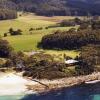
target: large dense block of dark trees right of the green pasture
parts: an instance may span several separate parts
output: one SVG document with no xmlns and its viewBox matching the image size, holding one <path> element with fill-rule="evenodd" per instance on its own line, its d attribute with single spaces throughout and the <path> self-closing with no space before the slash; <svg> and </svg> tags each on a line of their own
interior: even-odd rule
<svg viewBox="0 0 100 100">
<path fill-rule="evenodd" d="M 44 49 L 80 49 L 87 44 L 99 44 L 99 30 L 80 30 L 55 32 L 42 38 L 41 45 Z"/>
</svg>

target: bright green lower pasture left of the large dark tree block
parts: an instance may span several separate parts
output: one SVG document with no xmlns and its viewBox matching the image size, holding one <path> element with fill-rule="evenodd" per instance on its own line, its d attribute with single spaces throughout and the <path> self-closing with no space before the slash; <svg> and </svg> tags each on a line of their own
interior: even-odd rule
<svg viewBox="0 0 100 100">
<path fill-rule="evenodd" d="M 34 35 L 21 35 L 21 36 L 9 36 L 4 39 L 14 47 L 16 51 L 31 51 L 37 50 L 37 43 L 41 40 L 43 34 Z"/>
</svg>

